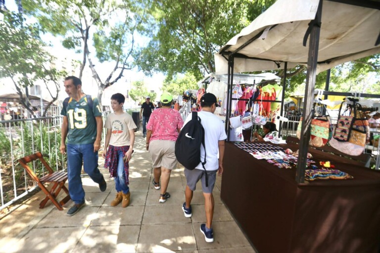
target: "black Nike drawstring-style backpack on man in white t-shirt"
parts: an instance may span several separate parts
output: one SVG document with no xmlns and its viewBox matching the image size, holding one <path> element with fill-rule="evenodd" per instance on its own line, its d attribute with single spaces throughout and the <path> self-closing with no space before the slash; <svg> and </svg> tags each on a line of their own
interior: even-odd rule
<svg viewBox="0 0 380 253">
<path fill-rule="evenodd" d="M 191 113 L 191 120 L 182 128 L 178 135 L 175 155 L 178 160 L 186 169 L 193 170 L 195 167 L 202 163 L 203 169 L 206 164 L 206 147 L 204 145 L 204 128 L 197 112 Z M 200 147 L 204 148 L 204 162 L 200 160 Z M 206 171 L 206 186 L 208 187 L 208 176 Z"/>
</svg>

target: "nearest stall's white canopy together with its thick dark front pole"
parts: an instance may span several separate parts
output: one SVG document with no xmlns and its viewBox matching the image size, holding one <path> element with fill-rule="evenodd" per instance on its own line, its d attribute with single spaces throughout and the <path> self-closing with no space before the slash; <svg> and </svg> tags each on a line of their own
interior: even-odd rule
<svg viewBox="0 0 380 253">
<path fill-rule="evenodd" d="M 316 74 L 380 53 L 379 33 L 380 0 L 277 0 L 215 54 L 217 74 L 307 65 L 298 183 L 304 182 Z"/>
</svg>

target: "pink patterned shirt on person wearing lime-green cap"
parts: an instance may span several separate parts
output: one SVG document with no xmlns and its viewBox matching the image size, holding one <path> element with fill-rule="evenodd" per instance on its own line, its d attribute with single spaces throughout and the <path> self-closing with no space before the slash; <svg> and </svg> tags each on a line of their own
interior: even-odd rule
<svg viewBox="0 0 380 253">
<path fill-rule="evenodd" d="M 152 112 L 146 129 L 152 131 L 149 141 L 172 140 L 176 141 L 178 130 L 184 126 L 180 113 L 171 108 L 159 108 Z"/>
</svg>

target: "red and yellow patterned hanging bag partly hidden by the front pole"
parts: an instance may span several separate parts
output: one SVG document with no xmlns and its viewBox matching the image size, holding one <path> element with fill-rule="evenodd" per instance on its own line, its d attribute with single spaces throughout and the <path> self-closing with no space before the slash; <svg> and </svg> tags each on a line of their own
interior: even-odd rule
<svg viewBox="0 0 380 253">
<path fill-rule="evenodd" d="M 314 114 L 313 107 L 313 114 Z M 327 112 L 327 111 L 326 111 Z M 297 138 L 301 139 L 302 117 L 297 127 Z M 309 145 L 313 147 L 325 146 L 331 138 L 330 116 L 319 116 L 311 120 Z"/>
</svg>

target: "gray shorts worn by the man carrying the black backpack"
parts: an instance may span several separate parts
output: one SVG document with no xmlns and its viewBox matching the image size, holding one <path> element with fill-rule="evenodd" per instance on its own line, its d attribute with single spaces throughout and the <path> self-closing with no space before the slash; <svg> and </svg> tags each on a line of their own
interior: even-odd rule
<svg viewBox="0 0 380 253">
<path fill-rule="evenodd" d="M 185 176 L 186 182 L 191 191 L 195 191 L 196 183 L 199 181 L 202 182 L 202 191 L 204 193 L 212 193 L 214 190 L 215 180 L 216 180 L 216 172 L 218 170 L 207 170 L 208 175 L 208 187 L 206 187 L 206 171 L 204 169 L 186 169 L 185 168 Z"/>
</svg>

